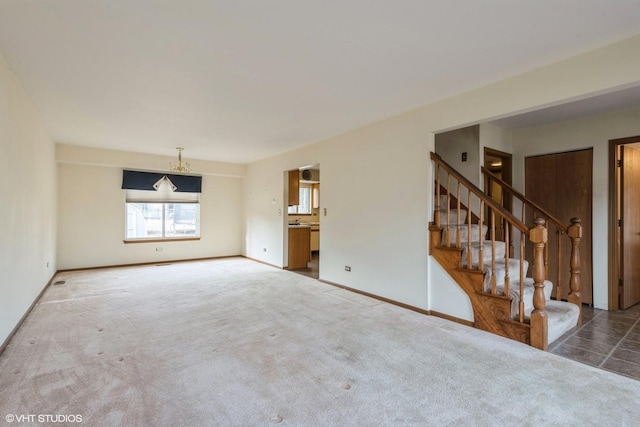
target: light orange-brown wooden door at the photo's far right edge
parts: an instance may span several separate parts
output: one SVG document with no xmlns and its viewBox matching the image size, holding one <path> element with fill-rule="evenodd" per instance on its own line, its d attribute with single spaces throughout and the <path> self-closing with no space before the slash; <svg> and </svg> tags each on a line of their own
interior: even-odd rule
<svg viewBox="0 0 640 427">
<path fill-rule="evenodd" d="M 640 302 L 640 150 L 623 145 L 620 150 L 620 308 Z"/>
</svg>

